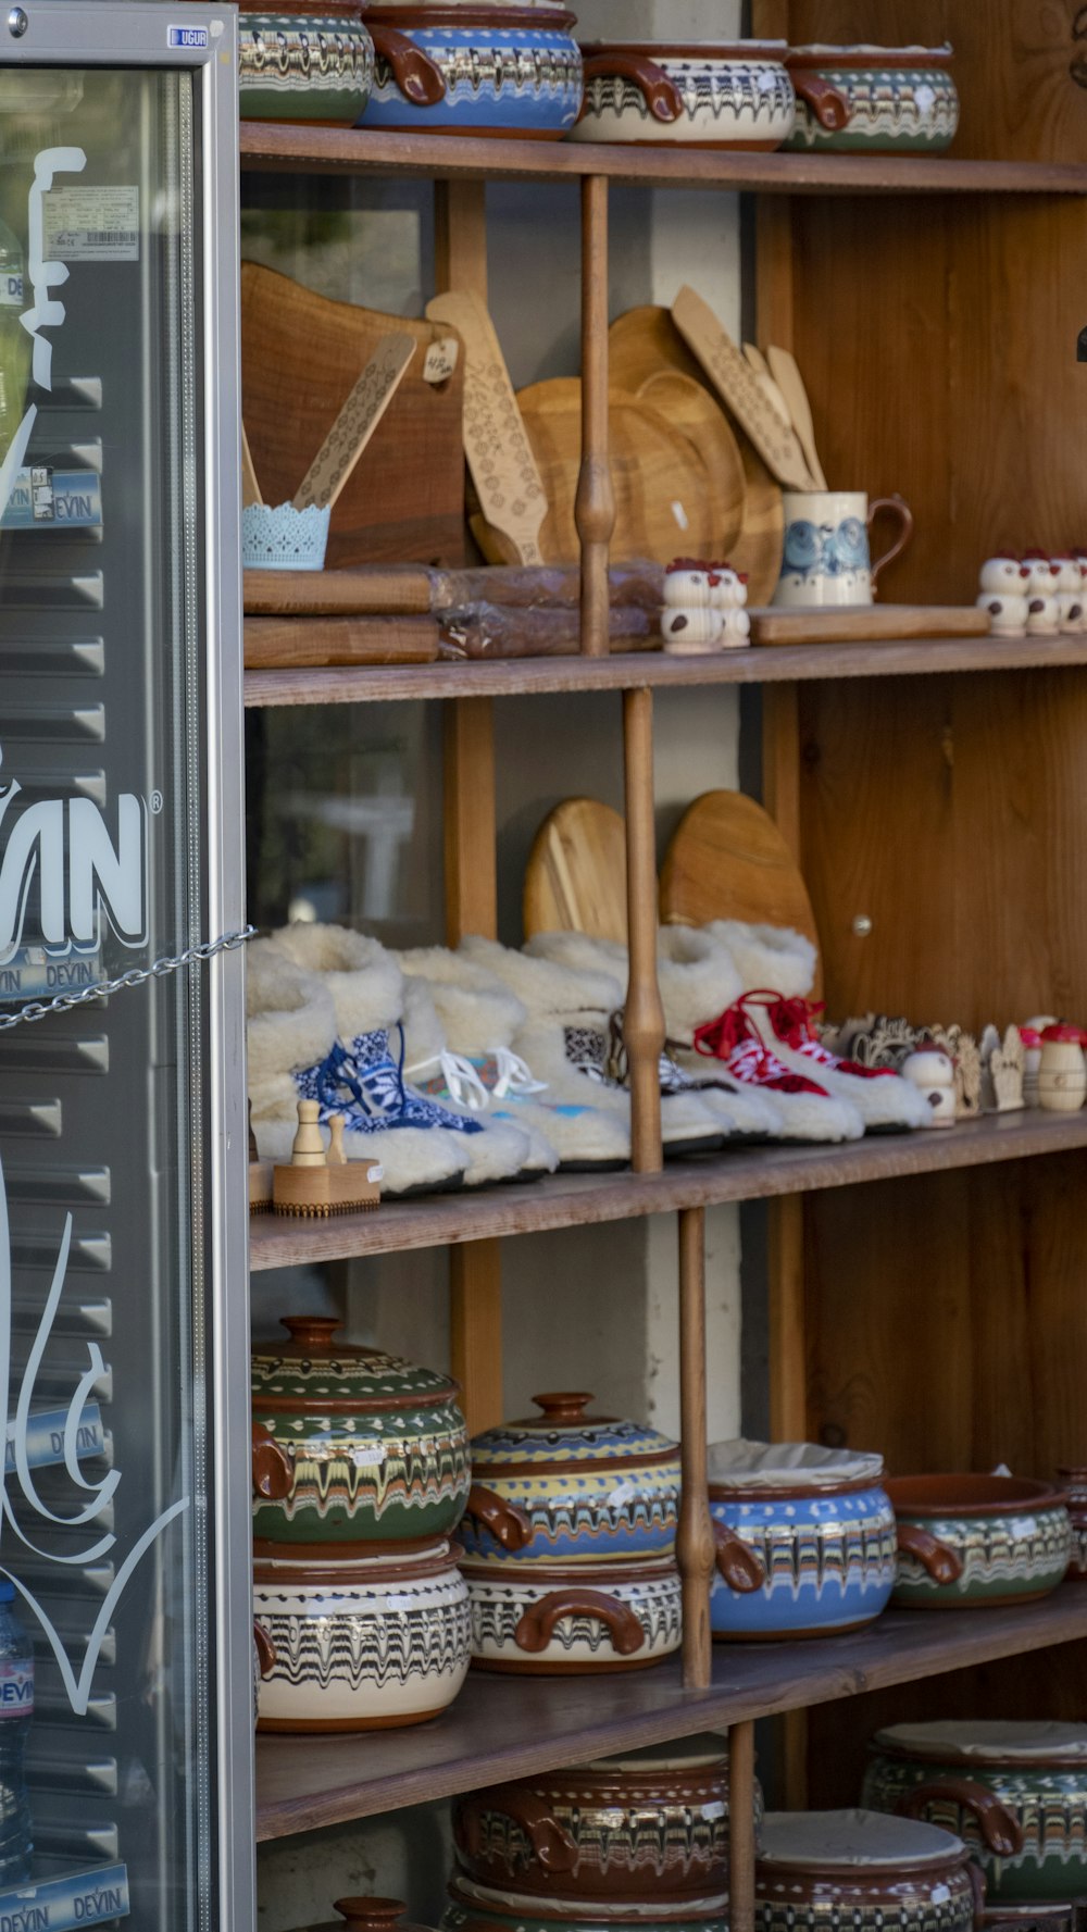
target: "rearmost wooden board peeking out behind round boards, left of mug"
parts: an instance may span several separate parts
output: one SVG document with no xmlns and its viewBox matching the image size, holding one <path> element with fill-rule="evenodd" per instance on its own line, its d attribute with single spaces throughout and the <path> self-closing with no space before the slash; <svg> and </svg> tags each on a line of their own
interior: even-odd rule
<svg viewBox="0 0 1087 1932">
<path fill-rule="evenodd" d="M 637 396 L 641 386 L 664 369 L 697 383 L 720 408 L 709 377 L 691 355 L 668 309 L 627 309 L 608 330 L 610 379 Z M 743 524 L 728 562 L 747 576 L 747 601 L 766 605 L 782 574 L 786 520 L 782 493 L 755 444 L 730 421 L 743 464 Z M 722 558 L 724 562 L 726 558 Z"/>
</svg>

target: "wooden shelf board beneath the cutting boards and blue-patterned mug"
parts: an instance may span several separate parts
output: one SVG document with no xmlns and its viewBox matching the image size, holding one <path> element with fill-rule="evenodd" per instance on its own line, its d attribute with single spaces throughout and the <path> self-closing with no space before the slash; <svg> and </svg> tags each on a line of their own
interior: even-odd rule
<svg viewBox="0 0 1087 1932">
<path fill-rule="evenodd" d="M 1087 638 L 927 638 L 913 643 L 803 643 L 668 657 L 463 659 L 344 670 L 247 670 L 245 703 L 359 705 L 409 697 L 523 697 L 533 692 L 626 692 L 672 684 L 794 684 L 813 678 L 902 678 L 952 670 L 1035 670 L 1087 665 Z"/>
</svg>

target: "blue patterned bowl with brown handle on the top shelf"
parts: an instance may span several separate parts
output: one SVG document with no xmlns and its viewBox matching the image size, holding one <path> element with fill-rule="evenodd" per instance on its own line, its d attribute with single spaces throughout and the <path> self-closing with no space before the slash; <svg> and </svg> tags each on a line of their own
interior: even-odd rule
<svg viewBox="0 0 1087 1932">
<path fill-rule="evenodd" d="M 581 110 L 573 14 L 541 6 L 378 6 L 365 128 L 558 141 Z"/>
</svg>

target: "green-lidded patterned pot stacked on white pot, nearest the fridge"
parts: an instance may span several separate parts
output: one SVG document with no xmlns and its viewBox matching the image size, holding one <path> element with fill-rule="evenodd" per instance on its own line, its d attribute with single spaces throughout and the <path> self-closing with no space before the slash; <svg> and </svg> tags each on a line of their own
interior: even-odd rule
<svg viewBox="0 0 1087 1932">
<path fill-rule="evenodd" d="M 253 1613 L 274 1652 L 259 1725 L 421 1723 L 469 1663 L 450 1542 L 469 1488 L 458 1385 L 336 1345 L 336 1321 L 284 1327 L 290 1343 L 253 1356 Z"/>
</svg>

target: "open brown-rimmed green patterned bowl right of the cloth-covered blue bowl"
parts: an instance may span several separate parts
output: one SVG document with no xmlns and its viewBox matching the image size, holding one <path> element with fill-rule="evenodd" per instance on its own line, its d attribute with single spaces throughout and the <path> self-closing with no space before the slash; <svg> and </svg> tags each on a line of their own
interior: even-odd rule
<svg viewBox="0 0 1087 1932">
<path fill-rule="evenodd" d="M 1019 1476 L 896 1476 L 892 1602 L 907 1609 L 1029 1604 L 1048 1596 L 1072 1555 L 1068 1497 Z"/>
</svg>

